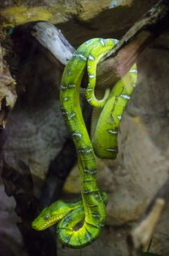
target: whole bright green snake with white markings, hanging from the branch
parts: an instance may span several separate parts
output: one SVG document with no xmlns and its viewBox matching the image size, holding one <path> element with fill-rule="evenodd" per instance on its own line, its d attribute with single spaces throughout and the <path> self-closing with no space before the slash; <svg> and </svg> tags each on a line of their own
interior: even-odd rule
<svg viewBox="0 0 169 256">
<path fill-rule="evenodd" d="M 115 42 L 117 40 L 90 39 L 78 48 L 63 71 L 60 86 L 61 110 L 78 155 L 82 198 L 75 203 L 64 203 L 61 200 L 52 203 L 42 210 L 32 222 L 32 227 L 44 230 L 58 223 L 57 236 L 70 248 L 83 248 L 94 242 L 105 225 L 107 198 L 106 192 L 101 192 L 96 184 L 95 155 L 102 159 L 117 157 L 118 127 L 137 80 L 134 64 L 113 86 L 112 92 L 106 89 L 102 99 L 95 97 L 96 65 Z M 89 76 L 86 99 L 93 107 L 102 108 L 92 143 L 79 103 L 79 88 L 86 68 Z M 75 225 L 81 220 L 84 220 L 83 225 L 75 231 Z"/>
</svg>

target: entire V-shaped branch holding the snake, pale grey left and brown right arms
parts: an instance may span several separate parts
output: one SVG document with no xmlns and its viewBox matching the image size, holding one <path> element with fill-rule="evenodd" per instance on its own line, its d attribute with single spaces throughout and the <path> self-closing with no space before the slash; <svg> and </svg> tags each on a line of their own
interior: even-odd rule
<svg viewBox="0 0 169 256">
<path fill-rule="evenodd" d="M 57 28 L 46 22 L 20 25 L 22 30 L 33 36 L 49 53 L 62 64 L 67 64 L 74 53 L 72 47 Z M 169 2 L 160 0 L 142 19 L 123 36 L 116 47 L 107 53 L 97 67 L 97 88 L 112 86 L 125 75 L 144 49 L 169 27 Z"/>
</svg>

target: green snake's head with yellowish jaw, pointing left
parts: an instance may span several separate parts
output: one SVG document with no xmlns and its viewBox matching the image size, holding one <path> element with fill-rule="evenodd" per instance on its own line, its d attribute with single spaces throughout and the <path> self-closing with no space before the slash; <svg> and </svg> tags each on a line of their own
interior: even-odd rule
<svg viewBox="0 0 169 256">
<path fill-rule="evenodd" d="M 47 227 L 56 224 L 62 220 L 65 215 L 71 211 L 67 203 L 58 200 L 41 211 L 41 214 L 32 222 L 32 227 L 36 231 L 45 230 Z"/>
</svg>

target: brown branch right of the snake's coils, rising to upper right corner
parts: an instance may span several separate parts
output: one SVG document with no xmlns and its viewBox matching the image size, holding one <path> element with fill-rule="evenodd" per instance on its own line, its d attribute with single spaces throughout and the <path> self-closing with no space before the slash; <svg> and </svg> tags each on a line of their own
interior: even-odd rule
<svg viewBox="0 0 169 256">
<path fill-rule="evenodd" d="M 169 2 L 160 0 L 98 64 L 97 86 L 111 86 L 125 75 L 144 49 L 169 28 Z"/>
</svg>

